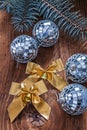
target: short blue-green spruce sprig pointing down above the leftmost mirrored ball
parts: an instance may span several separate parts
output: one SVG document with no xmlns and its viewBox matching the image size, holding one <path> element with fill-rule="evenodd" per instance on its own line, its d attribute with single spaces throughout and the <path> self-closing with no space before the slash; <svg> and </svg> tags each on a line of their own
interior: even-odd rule
<svg viewBox="0 0 87 130">
<path fill-rule="evenodd" d="M 38 19 L 37 1 L 16 0 L 12 10 L 12 23 L 19 32 L 28 31 Z"/>
</svg>

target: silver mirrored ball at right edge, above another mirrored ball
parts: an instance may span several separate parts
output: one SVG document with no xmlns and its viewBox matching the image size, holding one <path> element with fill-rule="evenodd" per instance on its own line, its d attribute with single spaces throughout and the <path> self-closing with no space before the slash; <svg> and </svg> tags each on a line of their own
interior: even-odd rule
<svg viewBox="0 0 87 130">
<path fill-rule="evenodd" d="M 77 83 L 87 82 L 87 55 L 74 54 L 66 63 L 66 77 Z"/>
</svg>

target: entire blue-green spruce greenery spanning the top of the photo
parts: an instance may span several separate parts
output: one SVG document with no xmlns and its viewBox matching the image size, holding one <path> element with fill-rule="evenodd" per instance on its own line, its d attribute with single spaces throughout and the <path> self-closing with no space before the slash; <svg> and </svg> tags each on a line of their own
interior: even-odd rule
<svg viewBox="0 0 87 130">
<path fill-rule="evenodd" d="M 19 32 L 28 31 L 40 16 L 54 21 L 64 33 L 77 39 L 87 39 L 87 18 L 72 12 L 69 0 L 2 0 L 0 8 L 12 15 L 12 23 Z"/>
</svg>

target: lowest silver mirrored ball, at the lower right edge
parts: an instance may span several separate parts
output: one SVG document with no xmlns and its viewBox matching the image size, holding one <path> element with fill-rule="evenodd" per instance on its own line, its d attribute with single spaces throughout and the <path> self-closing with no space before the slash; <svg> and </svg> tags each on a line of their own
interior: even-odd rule
<svg viewBox="0 0 87 130">
<path fill-rule="evenodd" d="M 79 115 L 87 109 L 87 89 L 81 84 L 70 84 L 59 94 L 62 109 L 70 115 Z"/>
</svg>

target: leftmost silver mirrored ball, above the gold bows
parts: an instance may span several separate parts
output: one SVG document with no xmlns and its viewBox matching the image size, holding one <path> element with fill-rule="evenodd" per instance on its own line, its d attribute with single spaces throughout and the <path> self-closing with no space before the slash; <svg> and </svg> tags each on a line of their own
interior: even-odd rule
<svg viewBox="0 0 87 130">
<path fill-rule="evenodd" d="M 18 36 L 12 41 L 10 52 L 17 62 L 27 63 L 28 61 L 34 60 L 37 56 L 37 42 L 27 35 Z"/>
</svg>

